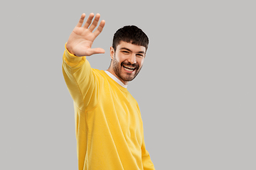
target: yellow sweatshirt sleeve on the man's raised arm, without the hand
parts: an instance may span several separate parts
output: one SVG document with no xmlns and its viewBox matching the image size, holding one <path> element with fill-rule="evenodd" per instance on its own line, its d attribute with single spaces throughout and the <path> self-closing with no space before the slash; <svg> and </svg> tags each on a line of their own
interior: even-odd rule
<svg viewBox="0 0 256 170">
<path fill-rule="evenodd" d="M 77 57 L 65 47 L 62 67 L 63 77 L 74 104 L 81 111 L 94 108 L 99 96 L 98 80 L 86 57 Z"/>
</svg>

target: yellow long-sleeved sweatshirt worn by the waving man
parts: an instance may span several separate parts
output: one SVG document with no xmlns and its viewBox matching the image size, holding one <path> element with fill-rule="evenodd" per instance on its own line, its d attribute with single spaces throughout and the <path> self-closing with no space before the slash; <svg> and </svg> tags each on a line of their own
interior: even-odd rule
<svg viewBox="0 0 256 170">
<path fill-rule="evenodd" d="M 153 170 L 139 106 L 129 91 L 67 49 L 63 75 L 75 107 L 78 169 Z"/>
</svg>

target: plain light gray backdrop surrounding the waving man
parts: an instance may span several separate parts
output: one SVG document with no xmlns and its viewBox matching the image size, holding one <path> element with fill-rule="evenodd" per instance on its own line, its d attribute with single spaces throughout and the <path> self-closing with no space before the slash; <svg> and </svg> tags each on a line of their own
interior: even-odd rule
<svg viewBox="0 0 256 170">
<path fill-rule="evenodd" d="M 61 62 L 80 15 L 106 25 L 92 67 L 107 69 L 114 32 L 149 36 L 128 89 L 157 170 L 256 169 L 255 1 L 1 2 L 0 169 L 78 169 L 73 101 Z"/>
</svg>

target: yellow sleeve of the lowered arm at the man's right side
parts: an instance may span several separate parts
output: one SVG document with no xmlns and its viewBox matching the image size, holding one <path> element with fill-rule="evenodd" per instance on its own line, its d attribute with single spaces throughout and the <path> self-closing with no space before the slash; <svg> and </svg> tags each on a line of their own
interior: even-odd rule
<svg viewBox="0 0 256 170">
<path fill-rule="evenodd" d="M 142 164 L 144 170 L 155 170 L 153 162 L 151 162 L 149 152 L 146 150 L 144 137 L 142 141 Z"/>
</svg>

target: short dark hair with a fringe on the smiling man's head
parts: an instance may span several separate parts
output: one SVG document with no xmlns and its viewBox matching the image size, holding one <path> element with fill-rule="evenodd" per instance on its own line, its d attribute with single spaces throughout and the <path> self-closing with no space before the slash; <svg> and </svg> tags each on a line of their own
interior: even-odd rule
<svg viewBox="0 0 256 170">
<path fill-rule="evenodd" d="M 117 49 L 120 41 L 131 42 L 134 45 L 142 45 L 146 47 L 149 45 L 149 38 L 146 34 L 137 26 L 124 26 L 119 28 L 116 33 L 114 33 L 112 47 L 114 51 Z"/>
</svg>

